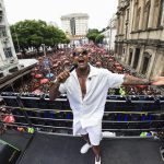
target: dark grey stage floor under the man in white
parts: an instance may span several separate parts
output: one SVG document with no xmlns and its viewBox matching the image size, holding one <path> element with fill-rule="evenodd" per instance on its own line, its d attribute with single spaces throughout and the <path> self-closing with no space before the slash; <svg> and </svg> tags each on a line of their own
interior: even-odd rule
<svg viewBox="0 0 164 164">
<path fill-rule="evenodd" d="M 16 164 L 94 164 L 92 150 L 80 154 L 79 137 L 7 131 L 0 139 L 22 150 Z M 102 141 L 102 164 L 164 164 L 159 140 L 115 139 Z"/>
</svg>

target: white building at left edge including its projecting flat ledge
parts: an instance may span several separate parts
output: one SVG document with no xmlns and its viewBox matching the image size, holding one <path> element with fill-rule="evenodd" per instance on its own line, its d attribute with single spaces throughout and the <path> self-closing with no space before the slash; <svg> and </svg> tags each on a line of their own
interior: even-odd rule
<svg viewBox="0 0 164 164">
<path fill-rule="evenodd" d="M 0 90 L 14 90 L 16 81 L 31 73 L 37 63 L 36 59 L 17 60 L 7 21 L 3 0 L 0 0 Z"/>
</svg>

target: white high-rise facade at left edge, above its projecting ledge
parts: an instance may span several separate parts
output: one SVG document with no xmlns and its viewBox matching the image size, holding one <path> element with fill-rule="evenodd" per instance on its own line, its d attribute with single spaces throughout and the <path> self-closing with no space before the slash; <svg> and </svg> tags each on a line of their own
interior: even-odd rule
<svg viewBox="0 0 164 164">
<path fill-rule="evenodd" d="M 0 78 L 17 70 L 17 57 L 7 21 L 3 0 L 0 0 Z"/>
</svg>

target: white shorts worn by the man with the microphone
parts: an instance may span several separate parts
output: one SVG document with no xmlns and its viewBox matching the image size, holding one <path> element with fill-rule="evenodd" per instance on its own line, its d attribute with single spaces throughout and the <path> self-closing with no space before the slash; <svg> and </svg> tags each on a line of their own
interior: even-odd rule
<svg viewBox="0 0 164 164">
<path fill-rule="evenodd" d="M 77 133 L 80 133 L 82 136 L 89 133 L 90 142 L 92 145 L 99 145 L 99 142 L 102 140 L 102 122 L 96 126 L 86 127 L 84 129 L 82 129 L 81 124 L 78 122 L 75 125 L 75 129 L 78 129 Z"/>
</svg>

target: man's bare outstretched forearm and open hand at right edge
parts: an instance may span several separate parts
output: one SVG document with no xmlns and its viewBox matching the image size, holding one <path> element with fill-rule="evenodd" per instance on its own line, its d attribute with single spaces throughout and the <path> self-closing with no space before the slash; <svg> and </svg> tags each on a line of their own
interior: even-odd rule
<svg viewBox="0 0 164 164">
<path fill-rule="evenodd" d="M 148 79 L 141 79 L 141 78 L 126 74 L 122 84 L 124 85 L 164 85 L 164 77 L 156 77 L 152 80 L 148 80 Z"/>
</svg>

